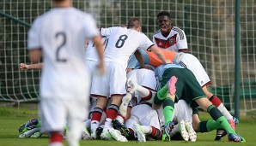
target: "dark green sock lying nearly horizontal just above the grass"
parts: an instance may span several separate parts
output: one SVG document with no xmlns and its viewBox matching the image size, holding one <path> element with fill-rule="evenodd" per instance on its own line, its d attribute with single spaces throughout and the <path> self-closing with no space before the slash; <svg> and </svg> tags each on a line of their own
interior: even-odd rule
<svg viewBox="0 0 256 146">
<path fill-rule="evenodd" d="M 219 125 L 215 120 L 206 120 L 198 123 L 198 132 L 208 132 L 221 128 L 222 126 Z"/>
</svg>

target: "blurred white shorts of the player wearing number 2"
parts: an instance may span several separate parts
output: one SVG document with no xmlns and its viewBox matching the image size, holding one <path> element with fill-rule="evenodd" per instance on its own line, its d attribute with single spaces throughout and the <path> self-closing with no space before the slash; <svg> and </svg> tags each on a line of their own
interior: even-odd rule
<svg viewBox="0 0 256 146">
<path fill-rule="evenodd" d="M 67 121 L 71 126 L 77 123 L 79 126 L 88 116 L 88 106 L 89 101 L 85 102 L 84 100 L 41 98 L 39 107 L 40 119 L 42 120 L 41 130 L 43 132 L 64 131 Z"/>
</svg>

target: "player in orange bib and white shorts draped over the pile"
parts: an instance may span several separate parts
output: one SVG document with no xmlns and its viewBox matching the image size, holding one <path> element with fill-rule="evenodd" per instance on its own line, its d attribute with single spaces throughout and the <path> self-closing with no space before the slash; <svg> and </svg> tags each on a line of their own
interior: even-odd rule
<svg viewBox="0 0 256 146">
<path fill-rule="evenodd" d="M 150 50 L 140 51 L 143 55 L 145 64 L 149 64 L 153 67 L 158 67 L 162 65 L 162 61 L 159 60 L 158 57 Z M 186 67 L 192 71 L 192 73 L 198 80 L 199 85 L 201 85 L 207 98 L 216 106 L 216 108 L 218 108 L 222 112 L 225 118 L 229 121 L 230 126 L 232 126 L 232 128 L 235 130 L 235 121 L 233 120 L 233 116 L 229 113 L 228 109 L 225 108 L 222 101 L 216 95 L 208 91 L 207 85 L 210 85 L 210 78 L 205 72 L 204 67 L 202 66 L 200 61 L 198 61 L 198 58 L 189 53 L 177 53 L 170 50 L 162 50 L 162 53 L 165 55 L 166 58 L 168 58 L 168 60 L 173 61 L 175 64 L 180 64 L 180 66 Z"/>
</svg>

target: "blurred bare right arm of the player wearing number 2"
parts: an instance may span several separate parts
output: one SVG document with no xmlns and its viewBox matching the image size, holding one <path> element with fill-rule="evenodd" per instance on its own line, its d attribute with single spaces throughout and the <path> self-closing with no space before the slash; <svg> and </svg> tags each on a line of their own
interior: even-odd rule
<svg viewBox="0 0 256 146">
<path fill-rule="evenodd" d="M 106 73 L 106 68 L 104 66 L 104 62 L 103 62 L 103 57 L 104 57 L 104 53 L 103 53 L 103 43 L 101 41 L 101 36 L 97 36 L 97 37 L 94 37 L 92 39 L 92 41 L 94 42 L 94 45 L 95 45 L 95 49 L 97 50 L 97 53 L 99 55 L 99 64 L 98 64 L 98 69 L 100 71 L 101 74 L 104 74 Z"/>
</svg>

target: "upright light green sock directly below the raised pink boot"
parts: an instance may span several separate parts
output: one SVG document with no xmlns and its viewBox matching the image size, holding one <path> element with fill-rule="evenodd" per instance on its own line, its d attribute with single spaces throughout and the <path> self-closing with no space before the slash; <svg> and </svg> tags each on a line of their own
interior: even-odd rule
<svg viewBox="0 0 256 146">
<path fill-rule="evenodd" d="M 165 124 L 168 124 L 169 121 L 173 120 L 174 114 L 174 102 L 171 98 L 167 98 L 163 102 L 163 115 Z"/>
</svg>

